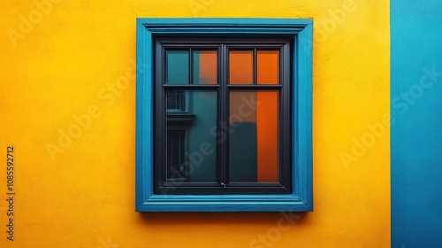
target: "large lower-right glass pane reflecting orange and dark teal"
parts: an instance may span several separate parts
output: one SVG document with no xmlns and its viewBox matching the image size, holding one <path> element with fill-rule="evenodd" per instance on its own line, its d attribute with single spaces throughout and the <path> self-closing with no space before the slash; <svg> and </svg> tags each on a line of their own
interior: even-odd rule
<svg viewBox="0 0 442 248">
<path fill-rule="evenodd" d="M 278 182 L 279 92 L 230 93 L 231 182 Z"/>
</svg>

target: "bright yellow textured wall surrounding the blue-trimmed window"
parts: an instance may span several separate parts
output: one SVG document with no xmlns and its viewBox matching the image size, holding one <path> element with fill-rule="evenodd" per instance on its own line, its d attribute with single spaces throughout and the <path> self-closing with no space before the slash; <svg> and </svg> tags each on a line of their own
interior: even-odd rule
<svg viewBox="0 0 442 248">
<path fill-rule="evenodd" d="M 1 247 L 265 247 L 260 236 L 269 247 L 390 245 L 389 130 L 352 153 L 389 113 L 388 1 L 41 1 L 43 12 L 0 2 Z M 280 213 L 135 213 L 137 17 L 314 19 L 313 213 L 293 225 Z"/>
</svg>

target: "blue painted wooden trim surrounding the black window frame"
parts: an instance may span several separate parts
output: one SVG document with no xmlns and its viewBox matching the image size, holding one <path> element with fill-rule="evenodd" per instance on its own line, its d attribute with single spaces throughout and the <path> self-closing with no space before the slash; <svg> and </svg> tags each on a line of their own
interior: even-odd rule
<svg viewBox="0 0 442 248">
<path fill-rule="evenodd" d="M 154 195 L 153 35 L 286 35 L 293 56 L 293 193 L 287 195 Z M 313 211 L 312 19 L 137 19 L 136 196 L 138 212 Z"/>
</svg>

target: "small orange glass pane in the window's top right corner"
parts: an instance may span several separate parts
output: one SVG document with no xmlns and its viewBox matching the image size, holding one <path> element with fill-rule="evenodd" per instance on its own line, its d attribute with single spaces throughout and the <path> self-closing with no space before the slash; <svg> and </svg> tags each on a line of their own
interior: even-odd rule
<svg viewBox="0 0 442 248">
<path fill-rule="evenodd" d="M 258 50 L 257 51 L 257 83 L 278 84 L 279 83 L 279 51 Z"/>
</svg>

